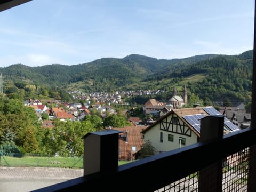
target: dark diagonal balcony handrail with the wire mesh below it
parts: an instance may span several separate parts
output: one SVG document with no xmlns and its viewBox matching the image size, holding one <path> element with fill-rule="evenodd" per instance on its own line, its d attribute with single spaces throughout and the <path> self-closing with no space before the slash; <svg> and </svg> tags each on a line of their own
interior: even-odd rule
<svg viewBox="0 0 256 192">
<path fill-rule="evenodd" d="M 240 130 L 36 191 L 256 191 L 255 135 Z"/>
</svg>

